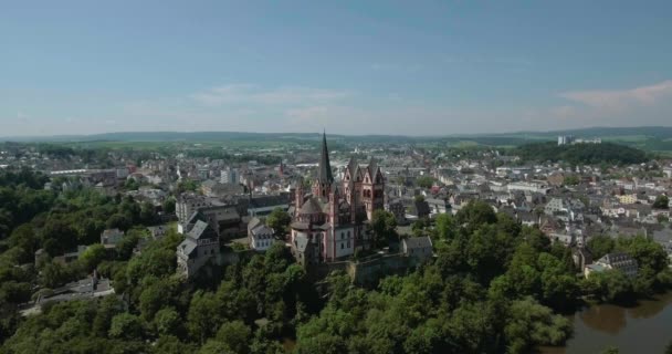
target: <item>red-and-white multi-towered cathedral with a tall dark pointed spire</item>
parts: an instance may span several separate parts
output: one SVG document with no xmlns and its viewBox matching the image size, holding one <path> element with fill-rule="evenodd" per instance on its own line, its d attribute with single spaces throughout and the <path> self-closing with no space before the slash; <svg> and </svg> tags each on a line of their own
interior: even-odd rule
<svg viewBox="0 0 672 354">
<path fill-rule="evenodd" d="M 375 210 L 384 208 L 385 199 L 385 179 L 372 158 L 366 167 L 351 158 L 337 183 L 323 134 L 317 177 L 309 192 L 304 186 L 300 179 L 293 188 L 291 244 L 298 263 L 334 262 L 370 248 L 365 225 Z"/>
</svg>

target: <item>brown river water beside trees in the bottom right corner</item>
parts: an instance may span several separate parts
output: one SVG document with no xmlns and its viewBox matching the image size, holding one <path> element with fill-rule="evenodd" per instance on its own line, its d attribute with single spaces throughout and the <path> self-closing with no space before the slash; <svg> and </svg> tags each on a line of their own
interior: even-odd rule
<svg viewBox="0 0 672 354">
<path fill-rule="evenodd" d="M 577 312 L 574 336 L 565 347 L 542 347 L 543 354 L 597 353 L 609 346 L 619 354 L 663 353 L 672 341 L 672 292 L 637 306 L 595 305 Z"/>
</svg>

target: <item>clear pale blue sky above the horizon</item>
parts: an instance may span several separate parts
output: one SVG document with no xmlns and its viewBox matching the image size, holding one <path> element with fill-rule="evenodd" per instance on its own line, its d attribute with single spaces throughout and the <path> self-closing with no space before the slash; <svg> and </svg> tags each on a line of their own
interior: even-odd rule
<svg viewBox="0 0 672 354">
<path fill-rule="evenodd" d="M 672 1 L 2 1 L 0 136 L 671 125 Z"/>
</svg>

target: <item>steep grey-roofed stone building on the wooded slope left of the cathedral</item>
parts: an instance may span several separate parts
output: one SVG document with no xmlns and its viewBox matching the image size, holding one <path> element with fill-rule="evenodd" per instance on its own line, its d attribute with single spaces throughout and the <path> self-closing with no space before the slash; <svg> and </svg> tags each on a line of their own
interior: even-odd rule
<svg viewBox="0 0 672 354">
<path fill-rule="evenodd" d="M 187 225 L 185 240 L 177 247 L 177 272 L 193 278 L 208 262 L 220 263 L 219 235 L 207 218 L 196 212 Z"/>
</svg>

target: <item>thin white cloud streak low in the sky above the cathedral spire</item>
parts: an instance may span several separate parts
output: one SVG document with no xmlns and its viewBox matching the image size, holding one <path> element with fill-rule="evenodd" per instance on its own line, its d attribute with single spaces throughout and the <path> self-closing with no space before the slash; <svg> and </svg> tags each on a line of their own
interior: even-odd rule
<svg viewBox="0 0 672 354">
<path fill-rule="evenodd" d="M 350 92 L 303 86 L 281 86 L 263 88 L 251 84 L 231 84 L 210 88 L 190 95 L 192 100 L 204 105 L 223 104 L 311 104 L 330 102 L 350 96 Z"/>
</svg>

